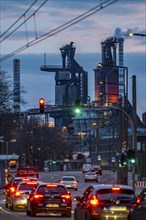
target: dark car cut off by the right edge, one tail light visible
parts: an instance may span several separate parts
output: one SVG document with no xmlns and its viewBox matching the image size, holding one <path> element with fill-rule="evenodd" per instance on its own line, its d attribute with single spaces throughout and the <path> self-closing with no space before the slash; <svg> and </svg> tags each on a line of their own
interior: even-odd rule
<svg viewBox="0 0 146 220">
<path fill-rule="evenodd" d="M 146 219 L 146 188 L 137 196 L 136 204 L 131 208 L 130 220 Z"/>
</svg>

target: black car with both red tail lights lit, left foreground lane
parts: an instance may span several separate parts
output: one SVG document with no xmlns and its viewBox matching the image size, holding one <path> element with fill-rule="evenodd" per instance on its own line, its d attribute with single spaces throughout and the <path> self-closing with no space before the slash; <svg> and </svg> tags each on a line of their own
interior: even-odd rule
<svg viewBox="0 0 146 220">
<path fill-rule="evenodd" d="M 71 193 L 61 183 L 40 183 L 27 198 L 26 214 L 37 213 L 60 214 L 71 217 Z"/>
</svg>

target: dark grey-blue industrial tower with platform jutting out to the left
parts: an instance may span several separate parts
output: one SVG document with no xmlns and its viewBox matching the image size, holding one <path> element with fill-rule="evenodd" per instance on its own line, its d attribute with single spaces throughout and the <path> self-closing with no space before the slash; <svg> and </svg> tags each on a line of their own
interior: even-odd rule
<svg viewBox="0 0 146 220">
<path fill-rule="evenodd" d="M 42 71 L 55 72 L 55 105 L 74 105 L 77 100 L 87 103 L 88 73 L 74 59 L 73 42 L 60 48 L 62 66 L 43 65 Z"/>
</svg>

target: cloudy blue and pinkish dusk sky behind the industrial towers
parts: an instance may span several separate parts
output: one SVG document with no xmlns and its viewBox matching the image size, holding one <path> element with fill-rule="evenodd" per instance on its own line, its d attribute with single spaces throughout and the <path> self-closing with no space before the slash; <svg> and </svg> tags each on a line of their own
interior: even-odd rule
<svg viewBox="0 0 146 220">
<path fill-rule="evenodd" d="M 76 47 L 75 60 L 88 72 L 88 94 L 94 100 L 94 69 L 101 62 L 100 43 L 118 35 L 125 39 L 124 66 L 128 67 L 129 72 L 129 100 L 132 102 L 131 77 L 136 75 L 137 112 L 140 118 L 146 112 L 146 37 L 128 36 L 129 32 L 146 34 L 146 0 L 113 0 L 109 1 L 113 4 L 104 7 L 105 2 L 0 0 L 0 66 L 12 76 L 13 60 L 20 59 L 21 85 L 27 92 L 23 95 L 27 104 L 22 109 L 39 107 L 38 100 L 41 97 L 54 104 L 55 73 L 42 72 L 40 66 L 44 64 L 44 54 L 46 64 L 61 65 L 60 48 L 70 42 L 74 42 Z M 100 6 L 96 13 L 55 33 L 56 28 L 96 6 Z M 8 30 L 11 26 L 12 29 Z M 37 43 L 44 34 L 48 34 L 46 39 Z M 32 45 L 32 42 L 35 44 Z M 18 52 L 22 47 L 24 50 Z M 14 51 L 16 54 L 9 57 Z"/>
</svg>

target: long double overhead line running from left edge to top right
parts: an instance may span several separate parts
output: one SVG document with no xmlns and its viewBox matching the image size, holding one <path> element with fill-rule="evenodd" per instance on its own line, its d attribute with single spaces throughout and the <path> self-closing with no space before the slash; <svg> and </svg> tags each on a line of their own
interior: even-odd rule
<svg viewBox="0 0 146 220">
<path fill-rule="evenodd" d="M 59 33 L 59 32 L 62 32 L 63 30 L 65 30 L 65 29 L 67 29 L 67 28 L 69 28 L 69 27 L 75 25 L 76 23 L 78 23 L 78 22 L 84 20 L 85 18 L 87 18 L 87 17 L 89 17 L 89 16 L 95 14 L 96 12 L 98 12 L 98 11 L 100 11 L 100 10 L 106 8 L 107 6 L 113 4 L 113 3 L 117 2 L 117 1 L 118 1 L 118 0 L 106 0 L 106 1 L 104 1 L 104 2 L 102 2 L 102 3 L 100 3 L 100 4 L 98 4 L 97 6 L 91 8 L 90 10 L 84 12 L 83 14 L 81 14 L 81 15 L 75 17 L 74 19 L 71 19 L 70 21 L 68 21 L 68 22 L 66 22 L 66 23 L 64 23 L 64 24 L 62 24 L 62 25 L 60 25 L 59 27 L 54 28 L 53 30 L 51 30 L 51 31 L 49 31 L 49 32 L 47 32 L 47 33 L 45 33 L 45 34 L 43 34 L 43 35 L 37 37 L 37 39 L 33 39 L 32 41 L 28 42 L 28 43 L 25 44 L 24 46 L 22 46 L 22 47 L 18 48 L 17 50 L 13 51 L 12 53 L 10 53 L 10 54 L 8 54 L 8 55 L 2 57 L 2 58 L 0 59 L 0 62 L 2 62 L 2 61 L 4 61 L 4 60 L 6 60 L 6 59 L 8 59 L 8 58 L 10 58 L 10 57 L 12 57 L 12 56 L 14 56 L 14 55 L 16 55 L 17 53 L 19 53 L 19 52 L 25 50 L 26 48 L 28 48 L 28 47 L 30 47 L 30 46 L 33 46 L 33 45 L 35 45 L 35 44 L 37 44 L 37 43 L 39 43 L 39 42 L 41 42 L 41 41 L 43 41 L 43 40 L 45 40 L 45 39 L 47 39 L 47 38 L 49 38 L 49 37 L 54 36 L 55 34 L 57 34 L 57 33 Z"/>
</svg>

